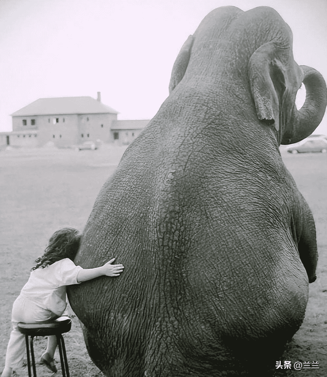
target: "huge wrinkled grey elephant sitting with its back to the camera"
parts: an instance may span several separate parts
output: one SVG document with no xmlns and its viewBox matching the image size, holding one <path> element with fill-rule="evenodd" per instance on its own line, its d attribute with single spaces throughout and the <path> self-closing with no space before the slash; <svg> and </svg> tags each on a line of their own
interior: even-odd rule
<svg viewBox="0 0 327 377">
<path fill-rule="evenodd" d="M 270 7 L 217 8 L 186 39 L 169 96 L 100 190 L 75 259 L 115 257 L 125 270 L 67 290 L 105 375 L 275 366 L 318 258 L 279 146 L 312 134 L 326 102 L 322 75 L 296 64 L 291 29 Z"/>
</svg>

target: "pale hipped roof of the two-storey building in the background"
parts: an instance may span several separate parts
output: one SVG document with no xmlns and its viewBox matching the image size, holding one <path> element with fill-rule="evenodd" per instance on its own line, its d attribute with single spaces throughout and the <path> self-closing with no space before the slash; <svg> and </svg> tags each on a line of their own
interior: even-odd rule
<svg viewBox="0 0 327 377">
<path fill-rule="evenodd" d="M 12 117 L 63 114 L 118 114 L 92 97 L 39 98 L 11 114 Z"/>
</svg>

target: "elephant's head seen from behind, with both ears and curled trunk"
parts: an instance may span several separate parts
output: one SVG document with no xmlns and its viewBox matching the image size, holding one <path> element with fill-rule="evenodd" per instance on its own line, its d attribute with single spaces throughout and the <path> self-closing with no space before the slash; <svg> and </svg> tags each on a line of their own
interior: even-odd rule
<svg viewBox="0 0 327 377">
<path fill-rule="evenodd" d="M 247 87 L 242 96 L 252 98 L 252 113 L 275 129 L 278 144 L 296 143 L 311 135 L 321 122 L 327 90 L 319 72 L 296 64 L 292 39 L 291 29 L 272 8 L 247 12 L 235 7 L 215 9 L 189 36 L 177 56 L 170 93 L 182 79 L 187 82 L 188 77 L 203 73 L 207 64 L 211 70 L 207 69 L 206 74 L 210 72 L 213 82 L 215 73 L 218 85 L 227 80 L 224 90 L 232 85 Z M 297 110 L 295 98 L 302 82 L 307 96 Z"/>
</svg>

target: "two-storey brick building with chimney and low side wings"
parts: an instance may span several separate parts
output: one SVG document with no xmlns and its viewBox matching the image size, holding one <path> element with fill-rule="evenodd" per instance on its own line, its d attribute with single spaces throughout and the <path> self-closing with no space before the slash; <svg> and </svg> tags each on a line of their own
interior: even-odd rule
<svg viewBox="0 0 327 377">
<path fill-rule="evenodd" d="M 17 110 L 11 132 L 1 132 L 0 145 L 57 147 L 101 140 L 129 144 L 148 120 L 117 120 L 116 110 L 92 97 L 40 98 Z"/>
</svg>

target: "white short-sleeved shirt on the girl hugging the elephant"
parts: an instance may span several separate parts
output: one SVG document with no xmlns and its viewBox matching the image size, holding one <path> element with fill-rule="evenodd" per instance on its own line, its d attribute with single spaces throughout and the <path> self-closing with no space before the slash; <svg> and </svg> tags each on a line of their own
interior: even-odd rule
<svg viewBox="0 0 327 377">
<path fill-rule="evenodd" d="M 78 284 L 77 275 L 83 270 L 71 259 L 64 258 L 37 268 L 31 272 L 20 295 L 33 301 L 43 309 L 60 316 L 66 306 L 66 285 Z"/>
</svg>

